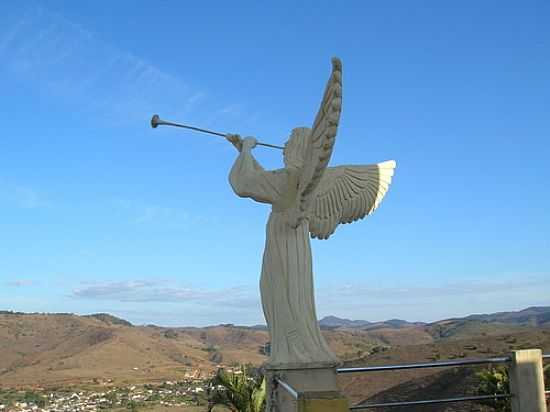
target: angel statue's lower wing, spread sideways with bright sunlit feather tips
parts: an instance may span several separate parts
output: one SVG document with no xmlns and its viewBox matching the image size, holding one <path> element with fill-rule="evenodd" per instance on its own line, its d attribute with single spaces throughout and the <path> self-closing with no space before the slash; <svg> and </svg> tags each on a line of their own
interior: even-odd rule
<svg viewBox="0 0 550 412">
<path fill-rule="evenodd" d="M 308 212 L 311 237 L 328 239 L 340 223 L 370 215 L 392 181 L 393 160 L 367 166 L 329 167 Z"/>
</svg>

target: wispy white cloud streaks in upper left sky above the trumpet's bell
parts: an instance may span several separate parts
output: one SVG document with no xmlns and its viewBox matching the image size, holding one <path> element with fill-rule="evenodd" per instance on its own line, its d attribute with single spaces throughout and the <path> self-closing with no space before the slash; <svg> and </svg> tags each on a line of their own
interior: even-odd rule
<svg viewBox="0 0 550 412">
<path fill-rule="evenodd" d="M 115 123 L 185 114 L 206 95 L 39 5 L 0 28 L 0 68 Z"/>
</svg>

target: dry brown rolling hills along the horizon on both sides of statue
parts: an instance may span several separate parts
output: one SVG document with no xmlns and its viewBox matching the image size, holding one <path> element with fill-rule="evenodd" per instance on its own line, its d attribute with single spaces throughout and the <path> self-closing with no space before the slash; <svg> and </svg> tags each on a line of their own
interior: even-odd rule
<svg viewBox="0 0 550 412">
<path fill-rule="evenodd" d="M 331 318 L 323 333 L 346 366 L 486 357 L 532 347 L 550 352 L 549 312 L 529 308 L 431 324 L 340 324 Z M 261 365 L 267 342 L 268 334 L 260 327 L 166 328 L 134 326 L 108 314 L 0 312 L 0 388 L 178 380 L 186 373 L 208 374 L 218 364 Z M 398 399 L 412 393 L 410 388 L 426 398 L 435 391 L 430 387 L 438 388 L 438 373 L 442 371 L 378 372 L 341 376 L 339 381 L 354 403 Z M 439 380 L 458 379 L 461 373 L 443 374 Z M 471 376 L 460 379 L 468 383 Z M 459 380 L 455 386 L 460 392 Z"/>
</svg>

